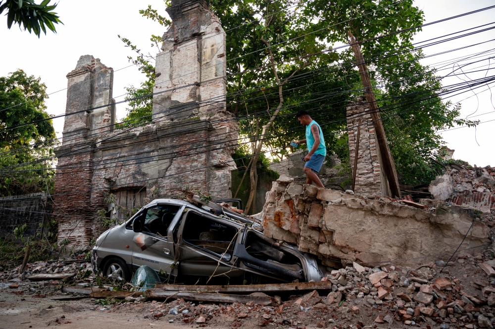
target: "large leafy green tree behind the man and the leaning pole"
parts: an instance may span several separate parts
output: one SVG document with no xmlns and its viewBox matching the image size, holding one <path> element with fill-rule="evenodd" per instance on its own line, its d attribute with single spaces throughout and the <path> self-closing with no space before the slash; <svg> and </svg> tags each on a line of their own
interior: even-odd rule
<svg viewBox="0 0 495 329">
<path fill-rule="evenodd" d="M 473 124 L 458 119 L 458 107 L 442 102 L 435 70 L 419 63 L 423 54 L 412 38 L 421 30 L 416 27 L 423 12 L 413 0 L 210 0 L 209 5 L 226 31 L 227 109 L 237 115 L 253 158 L 269 150 L 282 159 L 294 151 L 289 142 L 304 135 L 295 113 L 305 109 L 320 123 L 328 154 L 348 161 L 346 106 L 363 94 L 352 51 L 335 49 L 348 43 L 348 30 L 368 62 L 403 182 L 429 182 L 440 170 L 438 130 Z M 150 7 L 142 14 L 163 27 L 170 24 Z M 256 186 L 256 171 L 249 174 L 250 186 Z"/>
</svg>

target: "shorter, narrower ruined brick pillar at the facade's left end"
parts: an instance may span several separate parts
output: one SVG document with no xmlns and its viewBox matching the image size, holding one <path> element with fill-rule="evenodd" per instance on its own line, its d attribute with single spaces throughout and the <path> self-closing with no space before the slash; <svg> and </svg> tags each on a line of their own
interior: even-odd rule
<svg viewBox="0 0 495 329">
<path fill-rule="evenodd" d="M 59 244 L 65 238 L 71 244 L 84 244 L 94 230 L 91 206 L 94 141 L 96 136 L 111 131 L 115 122 L 113 69 L 99 58 L 84 55 L 67 79 L 62 144 L 55 149 L 58 163 L 53 213 L 58 222 Z M 85 111 L 94 107 L 99 108 Z"/>
</svg>

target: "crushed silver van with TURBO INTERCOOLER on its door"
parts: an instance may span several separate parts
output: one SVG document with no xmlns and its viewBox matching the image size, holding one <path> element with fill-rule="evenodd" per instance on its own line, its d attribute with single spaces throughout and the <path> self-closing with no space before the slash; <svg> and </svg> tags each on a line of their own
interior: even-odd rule
<svg viewBox="0 0 495 329">
<path fill-rule="evenodd" d="M 211 282 L 230 284 L 321 280 L 325 270 L 315 256 L 277 243 L 256 226 L 232 211 L 155 199 L 98 237 L 93 269 L 127 282 L 142 265 L 170 282 L 205 283 L 212 276 Z"/>
</svg>

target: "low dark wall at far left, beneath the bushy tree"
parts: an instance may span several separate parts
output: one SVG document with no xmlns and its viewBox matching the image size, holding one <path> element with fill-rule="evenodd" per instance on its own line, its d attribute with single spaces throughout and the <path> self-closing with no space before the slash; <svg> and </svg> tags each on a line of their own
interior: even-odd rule
<svg viewBox="0 0 495 329">
<path fill-rule="evenodd" d="M 25 236 L 41 232 L 40 225 L 51 217 L 51 203 L 46 193 L 32 193 L 0 198 L 0 237 L 11 238 L 14 229 L 27 225 Z"/>
</svg>

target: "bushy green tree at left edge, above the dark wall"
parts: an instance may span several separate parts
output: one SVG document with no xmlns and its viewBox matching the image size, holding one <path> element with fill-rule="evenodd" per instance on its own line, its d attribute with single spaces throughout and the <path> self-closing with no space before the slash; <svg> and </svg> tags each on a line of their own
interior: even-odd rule
<svg viewBox="0 0 495 329">
<path fill-rule="evenodd" d="M 49 118 L 46 85 L 23 70 L 0 77 L 0 195 L 47 191 L 53 187 L 52 157 L 56 142 Z M 29 164 L 24 164 L 29 163 Z M 40 170 L 41 169 L 41 170 Z"/>
</svg>

